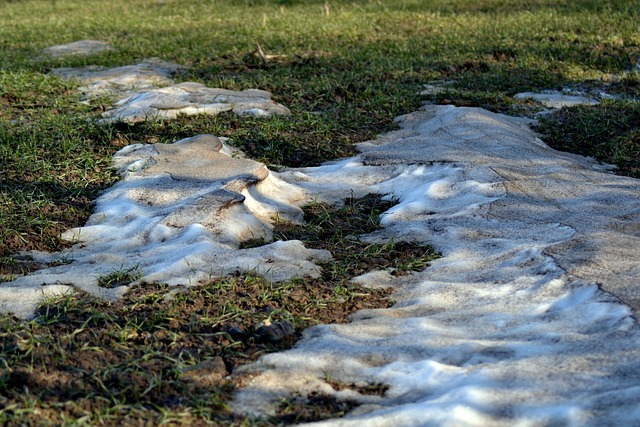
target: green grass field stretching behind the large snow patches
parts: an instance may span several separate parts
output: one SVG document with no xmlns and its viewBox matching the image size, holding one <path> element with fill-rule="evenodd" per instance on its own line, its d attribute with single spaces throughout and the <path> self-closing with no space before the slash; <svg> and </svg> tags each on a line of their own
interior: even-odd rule
<svg viewBox="0 0 640 427">
<path fill-rule="evenodd" d="M 638 97 L 633 1 L 0 1 L 0 255 L 59 249 L 57 236 L 90 213 L 114 181 L 123 143 L 172 142 L 200 132 L 231 137 L 253 158 L 302 166 L 353 154 L 351 146 L 416 110 L 421 85 L 454 81 L 436 103 L 526 111 L 512 95 L 565 86 Z M 98 6 L 99 5 L 99 6 Z M 96 12 L 99 10 L 99 12 Z M 110 42 L 92 57 L 46 59 L 43 48 Z M 256 44 L 266 65 L 247 59 Z M 182 78 L 258 87 L 288 118 L 231 115 L 97 127 L 60 66 L 119 66 L 159 57 L 191 67 Z M 105 100 L 106 102 L 107 100 Z M 44 212 L 44 214 L 43 214 Z"/>
</svg>

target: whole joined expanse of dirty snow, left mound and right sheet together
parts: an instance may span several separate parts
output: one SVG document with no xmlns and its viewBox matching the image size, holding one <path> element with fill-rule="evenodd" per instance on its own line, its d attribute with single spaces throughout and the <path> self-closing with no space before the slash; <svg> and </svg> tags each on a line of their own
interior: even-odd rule
<svg viewBox="0 0 640 427">
<path fill-rule="evenodd" d="M 399 204 L 364 239 L 429 243 L 444 257 L 407 276 L 357 278 L 393 286 L 397 304 L 313 327 L 243 368 L 235 411 L 269 414 L 320 392 L 361 406 L 319 425 L 639 423 L 640 182 L 482 109 L 428 106 L 399 123 L 354 158 L 282 173 L 211 136 L 127 147 L 115 157 L 126 179 L 66 234 L 78 245 L 33 254 L 71 263 L 3 284 L 2 309 L 28 315 L 64 284 L 116 298 L 126 287 L 97 279 L 123 268 L 173 284 L 235 270 L 317 274 L 325 252 L 239 244 L 268 240 L 276 213 L 300 221 L 312 197 L 374 192 Z M 377 383 L 389 386 L 382 397 L 356 391 Z"/>
</svg>

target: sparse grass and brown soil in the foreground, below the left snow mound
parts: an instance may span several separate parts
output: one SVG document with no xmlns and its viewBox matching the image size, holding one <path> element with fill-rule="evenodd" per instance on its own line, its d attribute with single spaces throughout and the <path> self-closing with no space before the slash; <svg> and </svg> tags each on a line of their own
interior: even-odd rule
<svg viewBox="0 0 640 427">
<path fill-rule="evenodd" d="M 227 407 L 242 381 L 225 378 L 229 371 L 289 348 L 305 327 L 377 307 L 387 294 L 247 276 L 189 289 L 143 284 L 117 303 L 81 292 L 51 298 L 31 321 L 0 318 L 0 423 L 248 423 Z M 274 338 L 265 328 L 277 324 L 290 331 Z M 336 415 L 334 406 L 327 397 L 303 416 Z M 289 410 L 255 422 L 300 416 Z"/>
</svg>

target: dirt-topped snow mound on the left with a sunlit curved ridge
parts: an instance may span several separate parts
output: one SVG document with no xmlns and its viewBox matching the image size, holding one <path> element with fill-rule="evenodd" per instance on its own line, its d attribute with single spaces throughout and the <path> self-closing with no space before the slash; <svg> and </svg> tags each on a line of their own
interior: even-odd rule
<svg viewBox="0 0 640 427">
<path fill-rule="evenodd" d="M 63 234 L 78 244 L 59 254 L 34 254 L 42 262 L 72 262 L 3 284 L 2 308 L 28 317 L 43 296 L 42 285 L 58 283 L 117 298 L 126 287 L 104 289 L 97 283 L 100 276 L 120 269 L 137 269 L 140 281 L 174 285 L 235 271 L 273 280 L 319 275 L 313 261 L 327 261 L 331 255 L 299 241 L 239 249 L 245 240 L 271 240 L 276 213 L 301 221 L 296 205 L 310 195 L 264 165 L 229 153 L 210 135 L 171 145 L 139 144 L 116 153 L 114 163 L 125 179 L 98 199 L 84 227 Z"/>
</svg>

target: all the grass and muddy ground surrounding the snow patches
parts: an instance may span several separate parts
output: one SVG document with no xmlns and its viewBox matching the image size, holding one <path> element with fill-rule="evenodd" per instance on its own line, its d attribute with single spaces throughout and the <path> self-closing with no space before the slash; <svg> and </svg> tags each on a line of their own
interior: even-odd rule
<svg viewBox="0 0 640 427">
<path fill-rule="evenodd" d="M 353 143 L 392 130 L 394 117 L 423 102 L 533 115 L 541 106 L 514 99 L 516 93 L 569 88 L 611 97 L 599 106 L 563 109 L 541 119 L 538 130 L 545 141 L 640 177 L 640 72 L 633 71 L 640 59 L 637 1 L 0 0 L 0 10 L 0 274 L 7 278 L 38 267 L 20 262 L 18 251 L 53 251 L 68 244 L 59 234 L 84 223 L 92 201 L 118 179 L 110 169 L 111 155 L 133 143 L 211 133 L 232 138 L 274 169 L 317 165 L 352 155 Z M 104 40 L 114 49 L 91 57 L 42 55 L 46 47 L 82 39 Z M 270 58 L 266 63 L 251 55 L 258 45 Z M 98 125 L 96 119 L 114 100 L 80 103 L 77 84 L 47 74 L 57 67 L 115 67 L 151 57 L 189 67 L 181 81 L 268 90 L 292 115 Z M 432 81 L 450 83 L 443 92 L 420 96 Z M 372 228 L 353 230 L 339 219 L 360 218 L 375 229 L 376 215 L 385 209 L 368 199 L 347 206 L 354 210 L 311 206 L 307 219 L 314 223 L 330 212 L 335 229 L 357 235 Z M 230 361 L 244 363 L 291 345 L 295 334 L 276 343 L 256 335 L 265 310 L 276 311 L 270 321 L 289 322 L 299 334 L 316 322 L 346 321 L 346 313 L 303 314 L 303 306 L 335 312 L 343 304 L 355 310 L 363 307 L 349 301 L 361 293 L 368 295 L 367 306 L 389 304 L 387 293 L 345 286 L 349 277 L 375 267 L 353 270 L 362 260 L 349 258 L 350 252 L 375 251 L 382 265 L 413 257 L 420 268 L 435 256 L 428 248 L 401 245 L 345 250 L 340 234 L 314 229 L 313 235 L 283 229 L 281 236 L 309 245 L 335 243 L 329 249 L 342 255 L 336 257 L 338 267 L 326 270 L 337 273 L 320 280 L 318 293 L 298 295 L 295 289 L 309 289 L 308 283 L 274 289 L 261 278 L 238 277 L 190 290 L 163 310 L 158 298 L 168 290 L 155 284 L 117 305 L 67 297 L 48 301 L 32 321 L 3 317 L 0 421 L 277 424 L 343 413 L 348 407 L 342 403 L 320 400 L 313 407 L 284 405 L 274 420 L 237 419 L 225 406 L 233 383 L 194 386 L 181 367 L 222 357 L 232 369 Z M 220 308 L 213 302 L 221 289 L 247 294 L 244 305 L 220 302 L 224 313 L 240 313 L 233 322 L 224 313 L 201 316 Z M 153 312 L 157 315 L 149 319 L 146 314 Z M 176 353 L 175 342 L 191 350 Z M 114 343 L 117 357 L 101 350 Z M 78 348 L 102 354 L 90 358 L 101 369 L 73 359 Z M 52 361 L 51 354 L 59 357 Z M 38 382 L 53 377 L 43 368 L 45 361 L 56 366 L 58 383 Z M 118 389 L 121 380 L 113 376 L 118 369 L 146 376 Z M 29 384 L 35 391 L 27 392 Z"/>
</svg>

